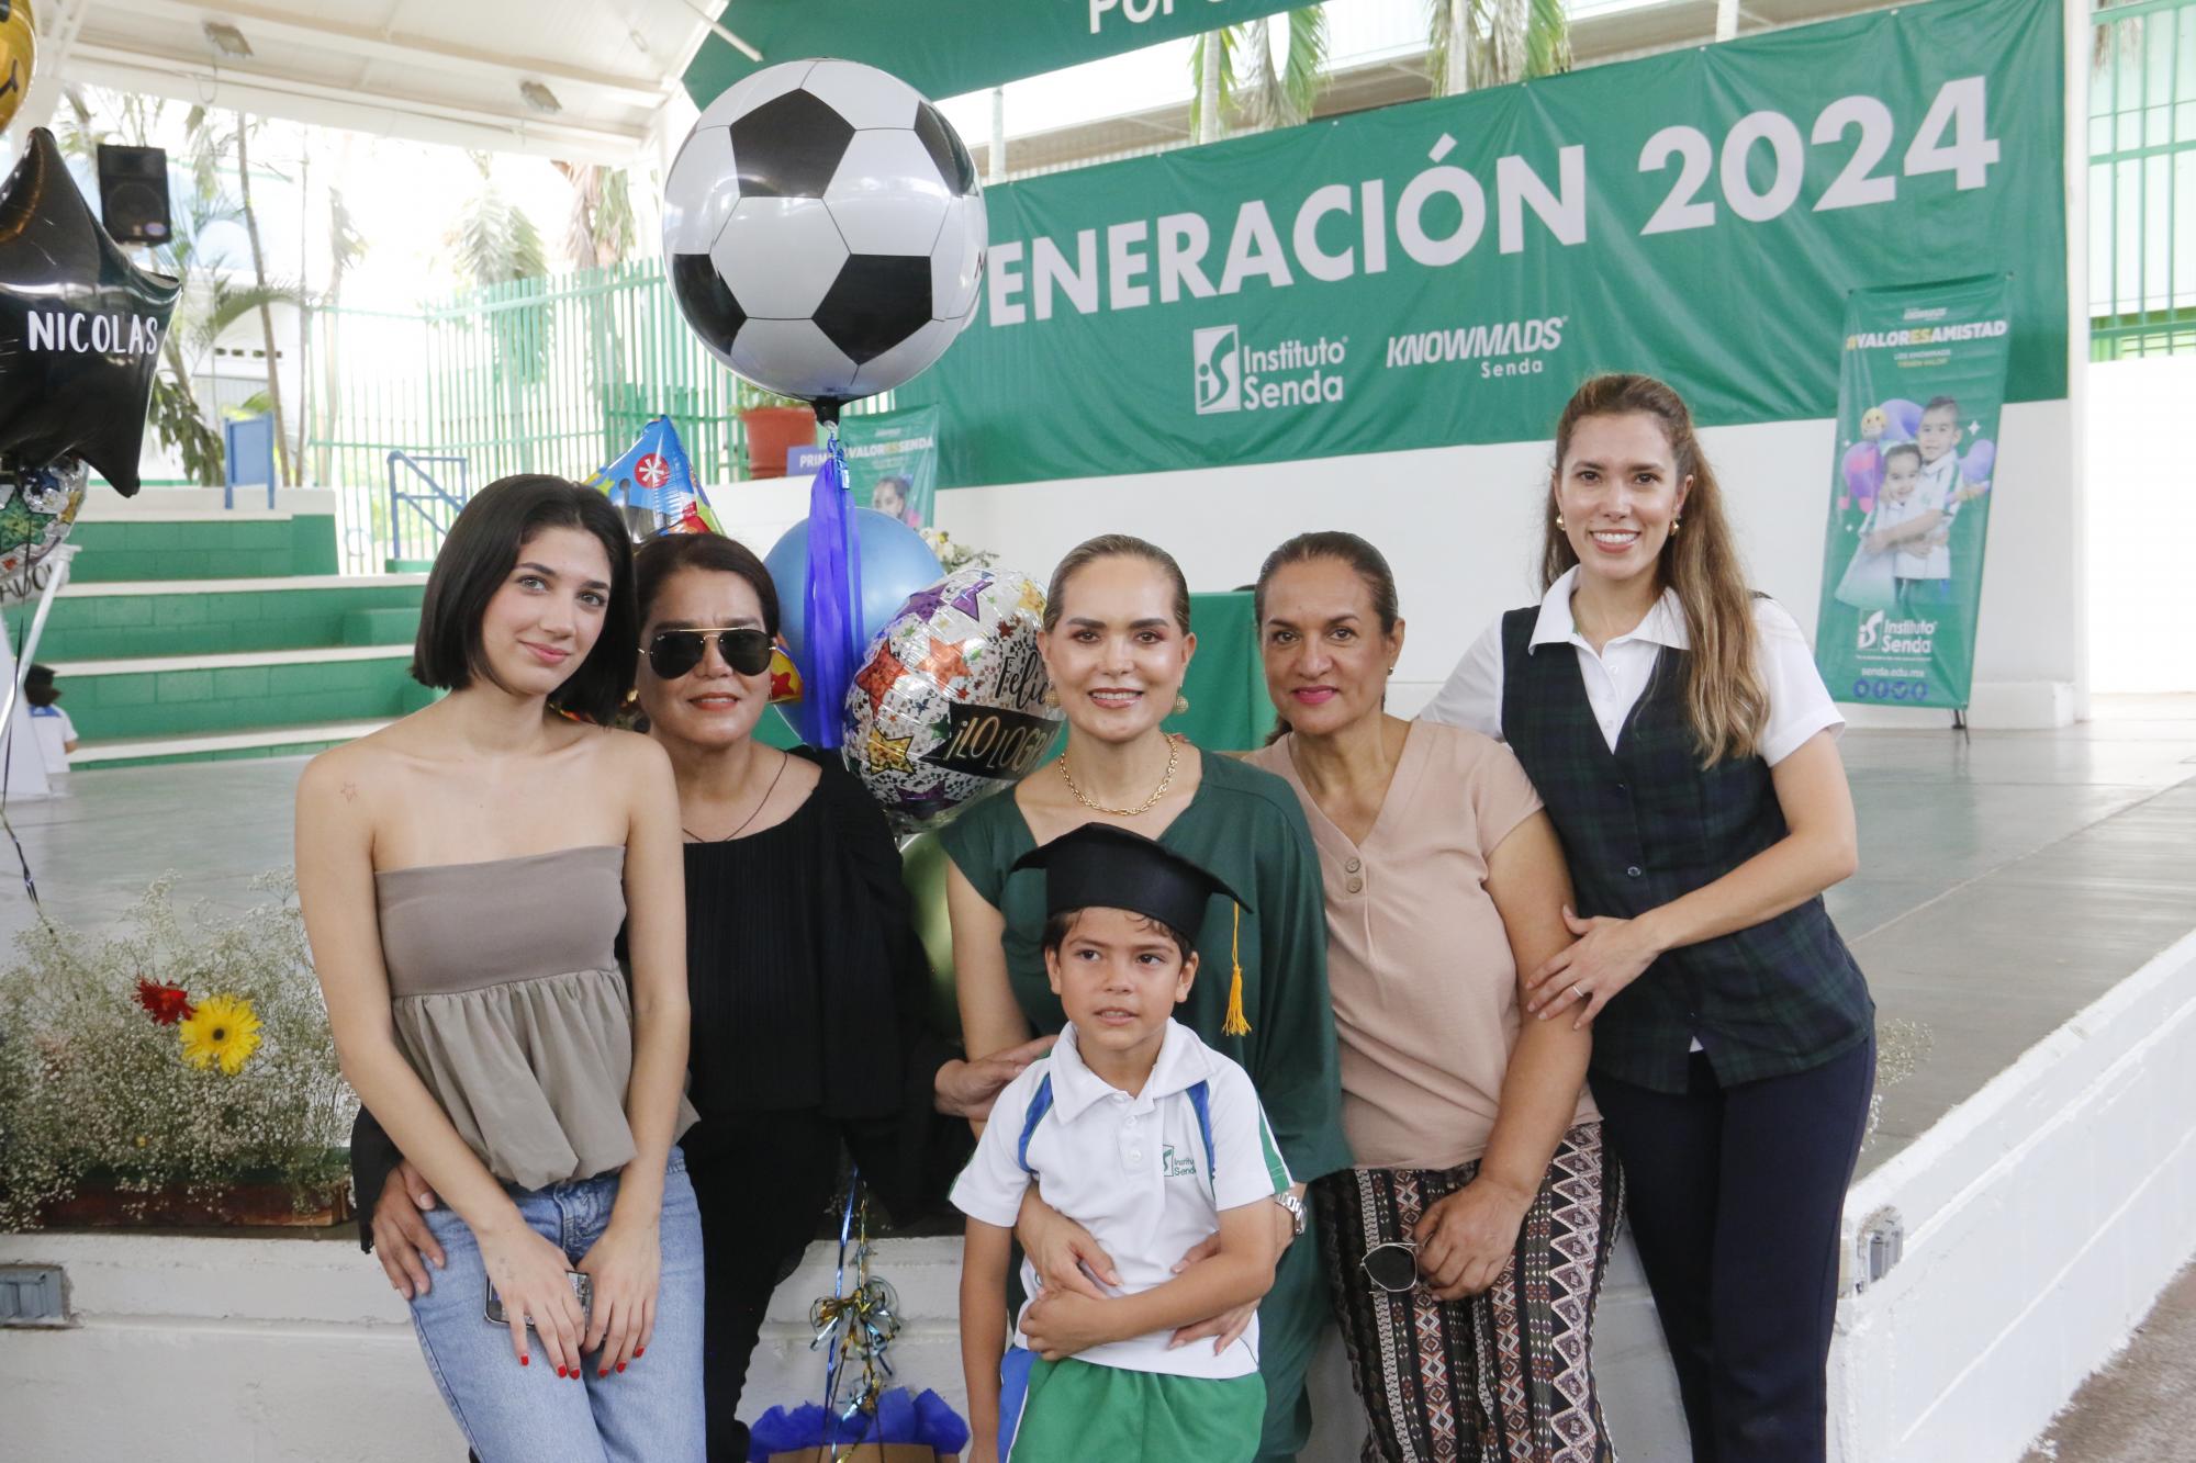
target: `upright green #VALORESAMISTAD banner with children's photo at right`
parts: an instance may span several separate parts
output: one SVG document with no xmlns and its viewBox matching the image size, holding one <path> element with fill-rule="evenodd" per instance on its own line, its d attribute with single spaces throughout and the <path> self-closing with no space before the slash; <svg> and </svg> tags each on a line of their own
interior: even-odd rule
<svg viewBox="0 0 2196 1463">
<path fill-rule="evenodd" d="M 2007 283 L 1853 290 L 1814 659 L 1838 701 L 1965 707 Z"/>
</svg>

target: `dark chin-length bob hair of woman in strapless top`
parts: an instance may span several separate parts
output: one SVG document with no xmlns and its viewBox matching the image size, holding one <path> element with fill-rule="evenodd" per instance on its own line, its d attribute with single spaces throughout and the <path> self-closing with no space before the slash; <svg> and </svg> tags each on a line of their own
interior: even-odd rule
<svg viewBox="0 0 2196 1463">
<path fill-rule="evenodd" d="M 610 560 L 610 602 L 602 615 L 602 639 L 580 668 L 549 694 L 560 712 L 610 725 L 617 703 L 632 688 L 641 624 L 632 606 L 632 543 L 626 521 L 606 496 L 562 477 L 525 472 L 501 477 L 472 494 L 450 525 L 450 536 L 426 576 L 419 604 L 419 637 L 413 641 L 413 681 L 435 690 L 461 690 L 494 672 L 481 652 L 481 617 L 496 598 L 518 551 L 551 527 L 580 529 L 602 543 Z"/>
</svg>

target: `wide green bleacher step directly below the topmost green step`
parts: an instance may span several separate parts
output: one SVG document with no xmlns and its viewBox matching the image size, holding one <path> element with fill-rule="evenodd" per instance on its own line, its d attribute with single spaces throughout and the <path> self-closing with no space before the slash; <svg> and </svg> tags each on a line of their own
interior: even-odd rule
<svg viewBox="0 0 2196 1463">
<path fill-rule="evenodd" d="M 411 644 L 419 619 L 417 580 L 231 580 L 195 589 L 167 584 L 70 584 L 53 600 L 42 661 L 112 661 L 165 655 L 231 655 L 307 646 Z M 250 589 L 244 589 L 250 584 Z M 121 591 L 121 593 L 114 593 Z M 33 606 L 7 611 L 13 644 Z M 367 615 L 354 628 L 354 617 Z M 360 639 L 369 635 L 369 639 Z"/>
</svg>

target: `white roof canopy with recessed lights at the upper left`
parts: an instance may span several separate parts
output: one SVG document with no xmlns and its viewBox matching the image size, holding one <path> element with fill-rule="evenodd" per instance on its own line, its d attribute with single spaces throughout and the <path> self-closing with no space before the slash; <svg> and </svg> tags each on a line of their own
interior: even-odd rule
<svg viewBox="0 0 2196 1463">
<path fill-rule="evenodd" d="M 206 22 L 235 26 L 253 55 L 222 55 Z M 687 0 L 44 0 L 40 31 L 42 81 L 626 163 L 652 141 L 707 20 Z M 527 81 L 558 110 L 527 103 Z"/>
</svg>

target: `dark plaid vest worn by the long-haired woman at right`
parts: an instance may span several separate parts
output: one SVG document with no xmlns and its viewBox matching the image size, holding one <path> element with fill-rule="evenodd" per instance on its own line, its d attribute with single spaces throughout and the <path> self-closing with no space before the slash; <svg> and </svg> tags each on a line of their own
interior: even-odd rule
<svg viewBox="0 0 2196 1463">
<path fill-rule="evenodd" d="M 1610 751 L 1577 652 L 1535 652 L 1537 619 L 1537 606 L 1502 617 L 1502 738 L 1548 804 L 1581 916 L 1636 918 L 1785 837 L 1768 762 L 1724 758 L 1702 771 L 1682 701 L 1689 652 L 1662 648 Z M 1873 1028 L 1869 986 L 1816 896 L 1647 967 L 1594 1019 L 1594 1070 L 1684 1092 L 1700 1037 L 1728 1087 L 1805 1072 Z"/>
</svg>

